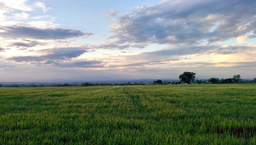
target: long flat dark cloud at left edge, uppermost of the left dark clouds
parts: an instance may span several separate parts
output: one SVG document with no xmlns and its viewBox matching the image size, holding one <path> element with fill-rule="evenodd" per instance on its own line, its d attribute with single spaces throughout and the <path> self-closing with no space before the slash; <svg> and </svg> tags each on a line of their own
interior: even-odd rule
<svg viewBox="0 0 256 145">
<path fill-rule="evenodd" d="M 71 37 L 88 37 L 93 33 L 83 33 L 80 30 L 62 28 L 37 28 L 28 26 L 0 26 L 0 36 L 11 38 L 34 38 L 34 39 L 65 39 Z"/>
</svg>

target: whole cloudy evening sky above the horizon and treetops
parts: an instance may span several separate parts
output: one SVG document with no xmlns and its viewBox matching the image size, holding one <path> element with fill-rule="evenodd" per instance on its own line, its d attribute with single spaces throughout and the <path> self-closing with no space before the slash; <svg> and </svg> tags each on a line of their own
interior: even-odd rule
<svg viewBox="0 0 256 145">
<path fill-rule="evenodd" d="M 177 79 L 185 71 L 254 78 L 255 7 L 255 0 L 0 0 L 0 81 Z"/>
</svg>

